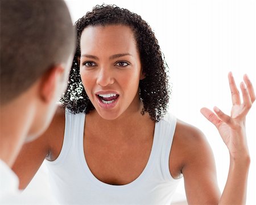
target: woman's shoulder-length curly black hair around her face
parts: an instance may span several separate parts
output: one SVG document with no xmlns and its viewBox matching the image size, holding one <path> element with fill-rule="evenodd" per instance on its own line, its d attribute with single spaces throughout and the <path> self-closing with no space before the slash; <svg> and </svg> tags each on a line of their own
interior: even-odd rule
<svg viewBox="0 0 256 205">
<path fill-rule="evenodd" d="M 141 16 L 115 5 L 97 5 L 75 23 L 77 29 L 77 49 L 73 59 L 67 90 L 60 102 L 72 113 L 94 109 L 86 95 L 79 73 L 80 39 L 82 31 L 90 26 L 122 24 L 129 26 L 133 32 L 139 50 L 142 71 L 145 78 L 139 82 L 139 95 L 143 102 L 142 114 L 148 112 L 153 121 L 158 122 L 167 112 L 170 87 L 167 79 L 167 64 L 160 52 L 158 40 L 150 25 Z"/>
</svg>

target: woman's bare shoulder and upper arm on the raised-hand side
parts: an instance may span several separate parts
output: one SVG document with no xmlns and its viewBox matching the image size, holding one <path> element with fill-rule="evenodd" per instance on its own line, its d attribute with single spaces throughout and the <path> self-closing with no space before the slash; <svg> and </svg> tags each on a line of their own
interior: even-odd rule
<svg viewBox="0 0 256 205">
<path fill-rule="evenodd" d="M 177 121 L 170 153 L 172 177 L 183 174 L 188 204 L 218 204 L 216 168 L 209 143 L 196 127 Z"/>
</svg>

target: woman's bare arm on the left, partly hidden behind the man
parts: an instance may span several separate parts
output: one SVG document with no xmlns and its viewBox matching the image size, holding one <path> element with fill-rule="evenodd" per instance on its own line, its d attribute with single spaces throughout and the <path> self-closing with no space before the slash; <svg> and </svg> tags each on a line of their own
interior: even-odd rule
<svg viewBox="0 0 256 205">
<path fill-rule="evenodd" d="M 19 189 L 25 189 L 44 159 L 55 160 L 64 136 L 65 110 L 58 108 L 46 132 L 38 139 L 24 144 L 12 169 L 19 177 Z"/>
</svg>

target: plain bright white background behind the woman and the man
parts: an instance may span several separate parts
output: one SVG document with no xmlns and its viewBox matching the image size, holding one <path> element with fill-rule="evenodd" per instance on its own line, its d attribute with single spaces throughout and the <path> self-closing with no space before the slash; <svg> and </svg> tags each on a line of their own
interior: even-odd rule
<svg viewBox="0 0 256 205">
<path fill-rule="evenodd" d="M 103 1 L 66 0 L 75 21 Z M 170 67 L 172 95 L 170 112 L 177 118 L 199 127 L 212 147 L 220 190 L 225 186 L 229 153 L 217 129 L 205 119 L 200 108 L 218 106 L 230 112 L 232 102 L 228 72 L 239 84 L 248 74 L 256 89 L 256 2 L 251 0 L 112 0 L 142 16 L 151 25 Z M 256 105 L 247 115 L 247 142 L 251 155 L 247 203 L 256 204 Z M 43 166 L 26 190 L 47 193 L 46 169 Z M 44 182 L 42 184 L 42 182 Z M 237 187 L 240 189 L 240 187 Z M 185 198 L 183 182 L 177 190 Z M 26 194 L 26 193 L 25 193 Z"/>
</svg>

